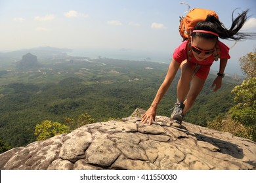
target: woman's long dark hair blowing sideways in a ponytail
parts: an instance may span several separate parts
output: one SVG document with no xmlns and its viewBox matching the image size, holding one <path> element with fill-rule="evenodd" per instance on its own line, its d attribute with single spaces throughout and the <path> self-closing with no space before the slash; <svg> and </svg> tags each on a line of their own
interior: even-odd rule
<svg viewBox="0 0 256 183">
<path fill-rule="evenodd" d="M 256 33 L 239 32 L 247 20 L 248 10 L 245 10 L 244 12 L 242 12 L 242 14 L 239 14 L 239 16 L 236 19 L 234 19 L 234 11 L 232 12 L 232 25 L 230 29 L 226 29 L 223 23 L 221 23 L 214 16 L 208 15 L 205 21 L 198 22 L 198 24 L 195 25 L 194 30 L 212 31 L 214 33 L 219 34 L 219 37 L 221 39 L 229 39 L 233 41 L 242 41 L 245 39 L 255 38 Z M 203 37 L 205 39 L 217 39 L 215 35 L 211 35 L 209 33 L 192 33 L 192 37 L 196 35 Z"/>
</svg>

